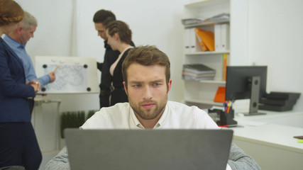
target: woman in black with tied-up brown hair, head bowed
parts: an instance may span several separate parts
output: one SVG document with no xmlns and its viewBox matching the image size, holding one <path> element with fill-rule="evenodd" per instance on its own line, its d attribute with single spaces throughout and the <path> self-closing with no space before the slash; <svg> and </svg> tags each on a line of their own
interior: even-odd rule
<svg viewBox="0 0 303 170">
<path fill-rule="evenodd" d="M 131 30 L 123 21 L 112 21 L 106 25 L 106 37 L 113 50 L 119 50 L 118 59 L 109 67 L 112 79 L 111 106 L 116 103 L 128 102 L 128 97 L 123 87 L 122 63 L 128 51 L 131 50 Z"/>
</svg>

